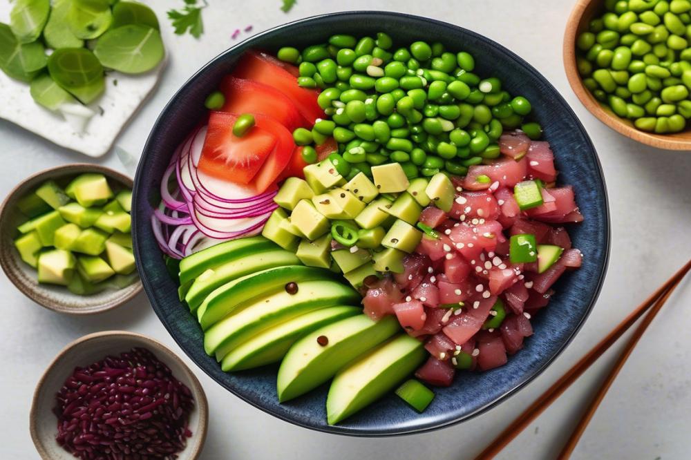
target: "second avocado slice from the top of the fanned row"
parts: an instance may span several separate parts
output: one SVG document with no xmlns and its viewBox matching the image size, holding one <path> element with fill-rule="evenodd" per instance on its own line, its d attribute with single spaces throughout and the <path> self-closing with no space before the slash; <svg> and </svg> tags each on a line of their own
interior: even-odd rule
<svg viewBox="0 0 691 460">
<path fill-rule="evenodd" d="M 190 310 L 194 311 L 211 294 L 211 291 L 225 283 L 259 270 L 284 265 L 301 265 L 300 259 L 294 253 L 283 249 L 255 251 L 252 257 L 236 258 L 205 271 L 194 280 L 184 300 L 187 301 Z"/>
</svg>

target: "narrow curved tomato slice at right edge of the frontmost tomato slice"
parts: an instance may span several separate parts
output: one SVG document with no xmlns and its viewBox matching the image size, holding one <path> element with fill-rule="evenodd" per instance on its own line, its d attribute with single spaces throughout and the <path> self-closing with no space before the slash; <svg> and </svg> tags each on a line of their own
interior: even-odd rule
<svg viewBox="0 0 691 460">
<path fill-rule="evenodd" d="M 275 119 L 265 115 L 254 115 L 257 126 L 265 128 L 269 133 L 276 137 L 276 146 L 274 151 L 269 155 L 266 162 L 261 167 L 261 170 L 254 177 L 254 185 L 257 192 L 262 193 L 272 186 L 278 177 L 286 169 L 295 150 L 295 143 L 293 142 L 293 135 L 281 123 L 276 122 Z"/>
</svg>

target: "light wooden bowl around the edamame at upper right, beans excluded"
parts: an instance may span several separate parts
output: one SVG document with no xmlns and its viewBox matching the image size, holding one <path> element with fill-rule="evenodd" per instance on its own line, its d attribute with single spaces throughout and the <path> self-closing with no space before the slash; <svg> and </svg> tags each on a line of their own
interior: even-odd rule
<svg viewBox="0 0 691 460">
<path fill-rule="evenodd" d="M 587 28 L 589 21 L 596 15 L 600 15 L 602 11 L 603 0 L 577 0 L 567 22 L 564 34 L 564 68 L 574 93 L 585 108 L 595 115 L 600 122 L 626 137 L 665 150 L 691 150 L 691 128 L 689 126 L 685 131 L 673 134 L 655 134 L 638 130 L 629 119 L 619 117 L 608 106 L 600 104 L 592 93 L 583 86 L 583 79 L 578 74 L 576 67 L 576 38 L 580 32 Z"/>
</svg>

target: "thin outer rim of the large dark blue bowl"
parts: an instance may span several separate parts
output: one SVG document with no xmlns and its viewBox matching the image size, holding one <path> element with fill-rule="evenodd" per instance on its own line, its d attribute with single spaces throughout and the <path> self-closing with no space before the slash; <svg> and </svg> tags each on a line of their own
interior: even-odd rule
<svg viewBox="0 0 691 460">
<path fill-rule="evenodd" d="M 422 432 L 430 432 L 434 430 L 439 430 L 441 428 L 447 428 L 451 425 L 455 425 L 457 423 L 461 423 L 463 421 L 468 421 L 470 419 L 475 418 L 476 416 L 486 412 L 487 410 L 494 408 L 496 405 L 499 405 L 500 403 L 507 401 L 509 397 L 514 396 L 515 394 L 518 393 L 518 390 L 521 390 L 523 387 L 525 387 L 528 383 L 533 381 L 533 379 L 537 378 L 542 374 L 542 372 L 545 372 L 547 367 L 551 365 L 560 354 L 567 348 L 567 346 L 573 341 L 574 337 L 578 332 L 580 331 L 581 327 L 583 327 L 583 324 L 589 317 L 590 313 L 592 312 L 592 309 L 594 305 L 596 304 L 598 300 L 598 296 L 600 295 L 600 291 L 602 290 L 604 281 L 605 281 L 605 274 L 607 273 L 607 267 L 609 265 L 609 251 L 611 249 L 611 218 L 609 215 L 609 200 L 608 200 L 608 193 L 607 193 L 607 186 L 605 183 L 605 177 L 603 173 L 603 168 L 602 164 L 600 163 L 600 159 L 596 153 L 595 146 L 593 145 L 589 135 L 587 134 L 587 131 L 585 131 L 585 128 L 583 127 L 583 124 L 580 123 L 580 119 L 578 119 L 578 116 L 576 113 L 574 113 L 574 110 L 569 106 L 569 104 L 565 101 L 565 99 L 560 95 L 558 90 L 547 80 L 547 78 L 543 77 L 536 68 L 534 68 L 531 64 L 529 64 L 527 61 L 525 61 L 522 57 L 518 56 L 515 54 L 515 52 L 509 50 L 502 44 L 499 44 L 497 41 L 494 41 L 493 39 L 490 39 L 489 37 L 485 37 L 484 35 L 481 35 L 478 32 L 474 32 L 473 30 L 469 30 L 467 28 L 463 28 L 461 26 L 457 26 L 452 23 L 448 23 L 445 21 L 439 21 L 438 19 L 432 19 L 429 17 L 424 17 L 424 16 L 419 16 L 419 15 L 410 15 L 408 13 L 403 13 L 403 12 L 392 12 L 392 11 L 380 11 L 380 10 L 353 10 L 353 11 L 339 11 L 339 12 L 330 12 L 330 13 L 325 13 L 323 15 L 314 15 L 310 17 L 305 17 L 303 19 L 297 19 L 295 21 L 290 21 L 287 23 L 282 23 L 278 26 L 274 26 L 272 28 L 269 28 L 267 30 L 264 30 L 263 32 L 258 32 L 256 35 L 253 35 L 252 37 L 248 37 L 247 39 L 244 39 L 243 41 L 238 42 L 237 44 L 234 44 L 234 46 L 231 46 L 227 48 L 226 50 L 223 50 L 223 52 L 220 52 L 218 55 L 210 59 L 206 64 L 204 64 L 199 70 L 194 72 L 183 84 L 180 86 L 180 88 L 176 91 L 171 96 L 171 99 L 169 99 L 169 102 L 161 109 L 161 112 L 159 113 L 158 117 L 156 118 L 156 121 L 153 124 L 151 133 L 149 133 L 149 137 L 146 140 L 146 144 L 144 144 L 144 148 L 142 149 L 142 158 L 138 164 L 137 172 L 135 174 L 135 187 L 133 189 L 133 202 L 138 202 L 138 193 L 139 193 L 139 187 L 138 184 L 142 181 L 142 174 L 145 169 L 144 166 L 144 157 L 146 153 L 149 151 L 151 148 L 151 145 L 155 142 L 153 140 L 153 135 L 155 133 L 155 128 L 160 124 L 160 122 L 163 119 L 163 116 L 165 113 L 169 111 L 171 106 L 175 103 L 176 99 L 186 90 L 186 87 L 190 82 L 192 82 L 198 75 L 204 73 L 207 68 L 210 66 L 213 66 L 218 59 L 224 57 L 225 55 L 234 52 L 237 48 L 243 48 L 244 46 L 247 46 L 252 43 L 252 41 L 255 41 L 256 39 L 260 37 L 264 37 L 265 35 L 270 35 L 273 34 L 283 28 L 288 28 L 290 26 L 296 26 L 301 23 L 305 22 L 310 22 L 310 21 L 316 21 L 319 19 L 326 19 L 326 18 L 339 18 L 339 17 L 350 17 L 350 16 L 363 16 L 366 17 L 368 15 L 379 15 L 379 16 L 387 16 L 392 19 L 413 19 L 415 21 L 426 21 L 429 23 L 436 24 L 437 26 L 442 26 L 445 28 L 453 28 L 459 32 L 462 32 L 464 34 L 467 34 L 474 39 L 484 41 L 488 44 L 491 44 L 491 46 L 498 47 L 502 50 L 507 55 L 507 58 L 512 59 L 514 61 L 515 65 L 522 66 L 524 67 L 527 72 L 532 73 L 539 79 L 541 79 L 545 84 L 551 88 L 554 93 L 558 95 L 558 98 L 560 102 L 563 105 L 563 109 L 566 113 L 569 113 L 571 117 L 573 117 L 574 121 L 578 125 L 578 128 L 580 129 L 580 133 L 583 135 L 584 139 L 587 142 L 587 146 L 591 149 L 591 151 L 594 152 L 594 165 L 596 166 L 596 173 L 598 174 L 598 178 L 600 182 L 602 183 L 602 191 L 603 191 L 603 197 L 605 198 L 603 202 L 603 214 L 604 214 L 604 225 L 605 225 L 605 235 L 604 235 L 604 240 L 603 240 L 603 245 L 604 245 L 604 251 L 603 251 L 603 264 L 602 264 L 602 269 L 600 272 L 597 274 L 597 287 L 595 291 L 592 294 L 591 302 L 587 306 L 586 312 L 583 315 L 583 318 L 580 318 L 580 321 L 574 327 L 573 332 L 563 341 L 562 344 L 556 349 L 556 351 L 553 353 L 553 355 L 547 360 L 542 366 L 538 367 L 534 372 L 531 373 L 530 376 L 527 378 L 522 378 L 521 381 L 516 383 L 513 387 L 511 387 L 507 392 L 503 395 L 500 396 L 499 398 L 495 399 L 494 401 L 490 401 L 486 405 L 483 405 L 482 407 L 478 408 L 474 412 L 468 413 L 460 418 L 455 418 L 455 419 L 450 419 L 447 421 L 441 421 L 438 423 L 434 423 L 433 425 L 425 426 L 425 427 L 413 427 L 413 428 L 394 428 L 390 430 L 363 430 L 363 429 L 358 429 L 358 428 L 349 428 L 349 429 L 344 429 L 339 427 L 339 425 L 316 425 L 316 424 L 310 424 L 310 423 L 303 423 L 302 421 L 298 421 L 290 416 L 285 416 L 284 414 L 281 414 L 280 412 L 276 412 L 272 410 L 270 406 L 265 406 L 261 405 L 261 403 L 256 403 L 255 401 L 252 401 L 252 399 L 249 399 L 249 397 L 245 396 L 242 394 L 242 392 L 238 392 L 233 387 L 229 387 L 227 385 L 224 385 L 223 383 L 220 383 L 219 381 L 216 380 L 216 377 L 214 376 L 212 370 L 207 370 L 205 367 L 204 363 L 200 362 L 195 356 L 191 356 L 191 354 L 187 351 L 186 347 L 183 346 L 183 340 L 182 337 L 176 336 L 176 334 L 173 334 L 173 331 L 171 330 L 171 325 L 167 323 L 164 318 L 162 318 L 162 313 L 159 312 L 159 308 L 154 305 L 153 302 L 151 303 L 151 307 L 153 308 L 154 312 L 156 313 L 156 316 L 158 316 L 159 320 L 163 324 L 163 326 L 166 328 L 168 333 L 173 337 L 173 340 L 180 345 L 180 348 L 182 351 L 187 354 L 187 356 L 195 363 L 200 369 L 205 372 L 210 378 L 212 378 L 218 385 L 221 387 L 225 388 L 227 391 L 229 391 L 231 394 L 234 394 L 234 396 L 237 396 L 241 400 L 245 401 L 245 403 L 249 403 L 250 405 L 254 406 L 255 408 L 272 415 L 276 417 L 277 419 L 281 419 L 283 421 L 286 421 L 288 423 L 292 423 L 293 425 L 300 426 L 302 428 L 307 428 L 309 430 L 314 430 L 318 432 L 324 432 L 324 433 L 329 433 L 329 434 L 340 434 L 343 436 L 349 436 L 349 437 L 370 437 L 370 438 L 376 438 L 376 437 L 395 437 L 395 436 L 401 436 L 401 435 L 406 435 L 406 434 L 417 434 L 417 433 L 422 433 Z M 133 236 L 135 240 L 134 244 L 134 249 L 135 249 L 135 256 L 137 260 L 137 265 L 138 268 L 140 268 L 140 247 L 138 245 L 138 238 L 137 238 L 137 233 L 138 233 L 138 216 L 137 213 L 133 213 Z M 147 219 L 144 219 L 144 221 L 148 222 Z M 151 286 L 151 282 L 149 281 L 146 276 L 142 277 L 142 284 L 144 285 L 144 291 L 146 292 L 146 296 L 151 298 L 154 298 L 155 296 L 153 295 L 153 287 Z"/>
</svg>

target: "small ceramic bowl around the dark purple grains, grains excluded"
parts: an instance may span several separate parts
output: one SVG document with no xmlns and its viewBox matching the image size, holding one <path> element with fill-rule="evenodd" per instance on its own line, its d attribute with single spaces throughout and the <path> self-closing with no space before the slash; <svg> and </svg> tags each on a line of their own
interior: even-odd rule
<svg viewBox="0 0 691 460">
<path fill-rule="evenodd" d="M 78 338 L 67 345 L 55 357 L 48 369 L 41 376 L 36 385 L 34 398 L 29 414 L 29 430 L 41 459 L 44 460 L 74 460 L 55 441 L 57 435 L 57 418 L 53 414 L 55 394 L 64 381 L 72 374 L 75 367 L 85 366 L 100 361 L 108 355 L 118 355 L 129 351 L 133 347 L 149 349 L 156 358 L 170 367 L 173 376 L 187 385 L 194 397 L 195 408 L 189 419 L 189 430 L 192 436 L 187 438 L 187 445 L 178 454 L 179 460 L 198 459 L 207 437 L 209 422 L 209 406 L 207 396 L 196 376 L 189 370 L 178 356 L 162 343 L 140 334 L 125 331 L 107 331 L 89 334 Z"/>
</svg>

